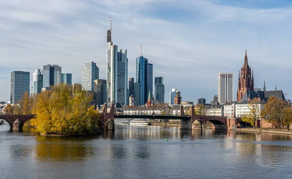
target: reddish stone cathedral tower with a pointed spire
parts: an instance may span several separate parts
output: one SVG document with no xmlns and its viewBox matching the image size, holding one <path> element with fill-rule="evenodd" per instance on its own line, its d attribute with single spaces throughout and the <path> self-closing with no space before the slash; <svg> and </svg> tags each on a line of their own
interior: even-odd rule
<svg viewBox="0 0 292 179">
<path fill-rule="evenodd" d="M 254 72 L 252 73 L 252 69 L 248 65 L 245 49 L 244 64 L 238 75 L 237 103 L 248 90 L 254 90 Z"/>
</svg>

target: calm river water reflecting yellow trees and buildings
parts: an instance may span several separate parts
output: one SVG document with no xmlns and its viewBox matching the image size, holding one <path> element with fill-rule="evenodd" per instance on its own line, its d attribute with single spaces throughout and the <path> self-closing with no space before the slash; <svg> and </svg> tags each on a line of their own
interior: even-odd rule
<svg viewBox="0 0 292 179">
<path fill-rule="evenodd" d="M 0 179 L 291 179 L 292 136 L 116 125 L 43 137 L 0 125 Z M 165 141 L 166 137 L 169 141 Z"/>
</svg>

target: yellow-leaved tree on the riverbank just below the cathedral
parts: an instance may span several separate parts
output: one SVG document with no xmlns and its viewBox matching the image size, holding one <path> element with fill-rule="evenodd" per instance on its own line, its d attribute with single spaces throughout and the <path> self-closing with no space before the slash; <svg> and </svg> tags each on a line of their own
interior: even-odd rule
<svg viewBox="0 0 292 179">
<path fill-rule="evenodd" d="M 261 102 L 256 98 L 248 102 L 249 113 L 241 118 L 243 122 L 249 123 L 256 127 L 256 120 L 261 117 Z"/>
</svg>

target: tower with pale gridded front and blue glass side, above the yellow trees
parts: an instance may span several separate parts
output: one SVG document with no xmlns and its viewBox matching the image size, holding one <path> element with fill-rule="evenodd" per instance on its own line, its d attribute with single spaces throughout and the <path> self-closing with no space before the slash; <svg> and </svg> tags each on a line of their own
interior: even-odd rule
<svg viewBox="0 0 292 179">
<path fill-rule="evenodd" d="M 93 81 L 99 77 L 99 69 L 92 61 L 84 62 L 84 67 L 81 70 L 81 85 L 82 90 L 92 91 Z"/>
</svg>

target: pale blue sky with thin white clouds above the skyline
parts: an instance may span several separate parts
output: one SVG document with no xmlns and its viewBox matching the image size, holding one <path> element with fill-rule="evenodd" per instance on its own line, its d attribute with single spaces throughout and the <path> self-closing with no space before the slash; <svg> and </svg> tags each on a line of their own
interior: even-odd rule
<svg viewBox="0 0 292 179">
<path fill-rule="evenodd" d="M 207 103 L 218 94 L 218 73 L 238 71 L 245 49 L 255 87 L 292 98 L 291 0 L 0 0 L 0 101 L 10 101 L 10 73 L 58 64 L 81 83 L 85 61 L 106 79 L 107 29 L 128 50 L 128 77 L 136 57 L 163 76 L 165 102 L 179 88 L 182 101 Z M 31 84 L 32 85 L 32 84 Z M 290 90 L 289 90 L 290 89 Z"/>
</svg>

